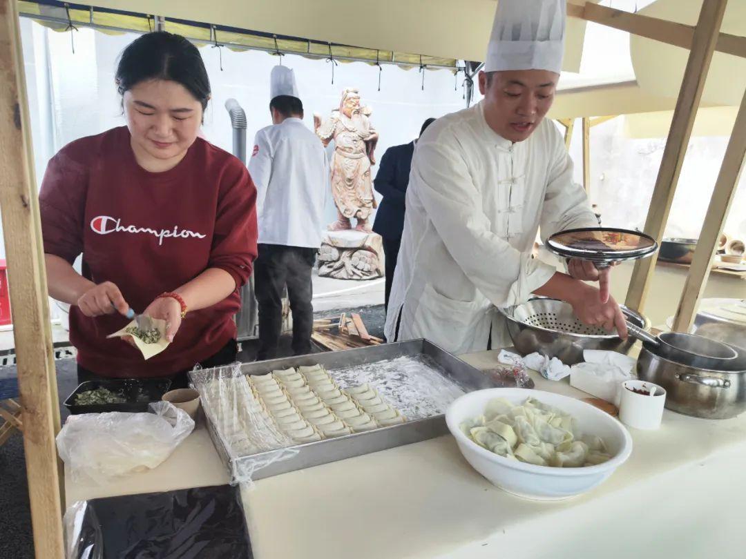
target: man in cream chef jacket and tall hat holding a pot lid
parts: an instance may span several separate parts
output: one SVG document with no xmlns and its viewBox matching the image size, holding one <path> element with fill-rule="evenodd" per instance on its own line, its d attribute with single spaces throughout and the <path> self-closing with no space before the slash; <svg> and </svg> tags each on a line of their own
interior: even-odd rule
<svg viewBox="0 0 746 559">
<path fill-rule="evenodd" d="M 536 232 L 598 227 L 559 131 L 543 119 L 562 66 L 565 0 L 500 0 L 484 99 L 435 121 L 412 162 L 386 338 L 427 338 L 452 353 L 510 345 L 495 307 L 532 294 L 565 300 L 585 323 L 617 327 L 608 271 L 557 271 L 531 251 Z M 580 280 L 601 279 L 601 290 Z"/>
</svg>

